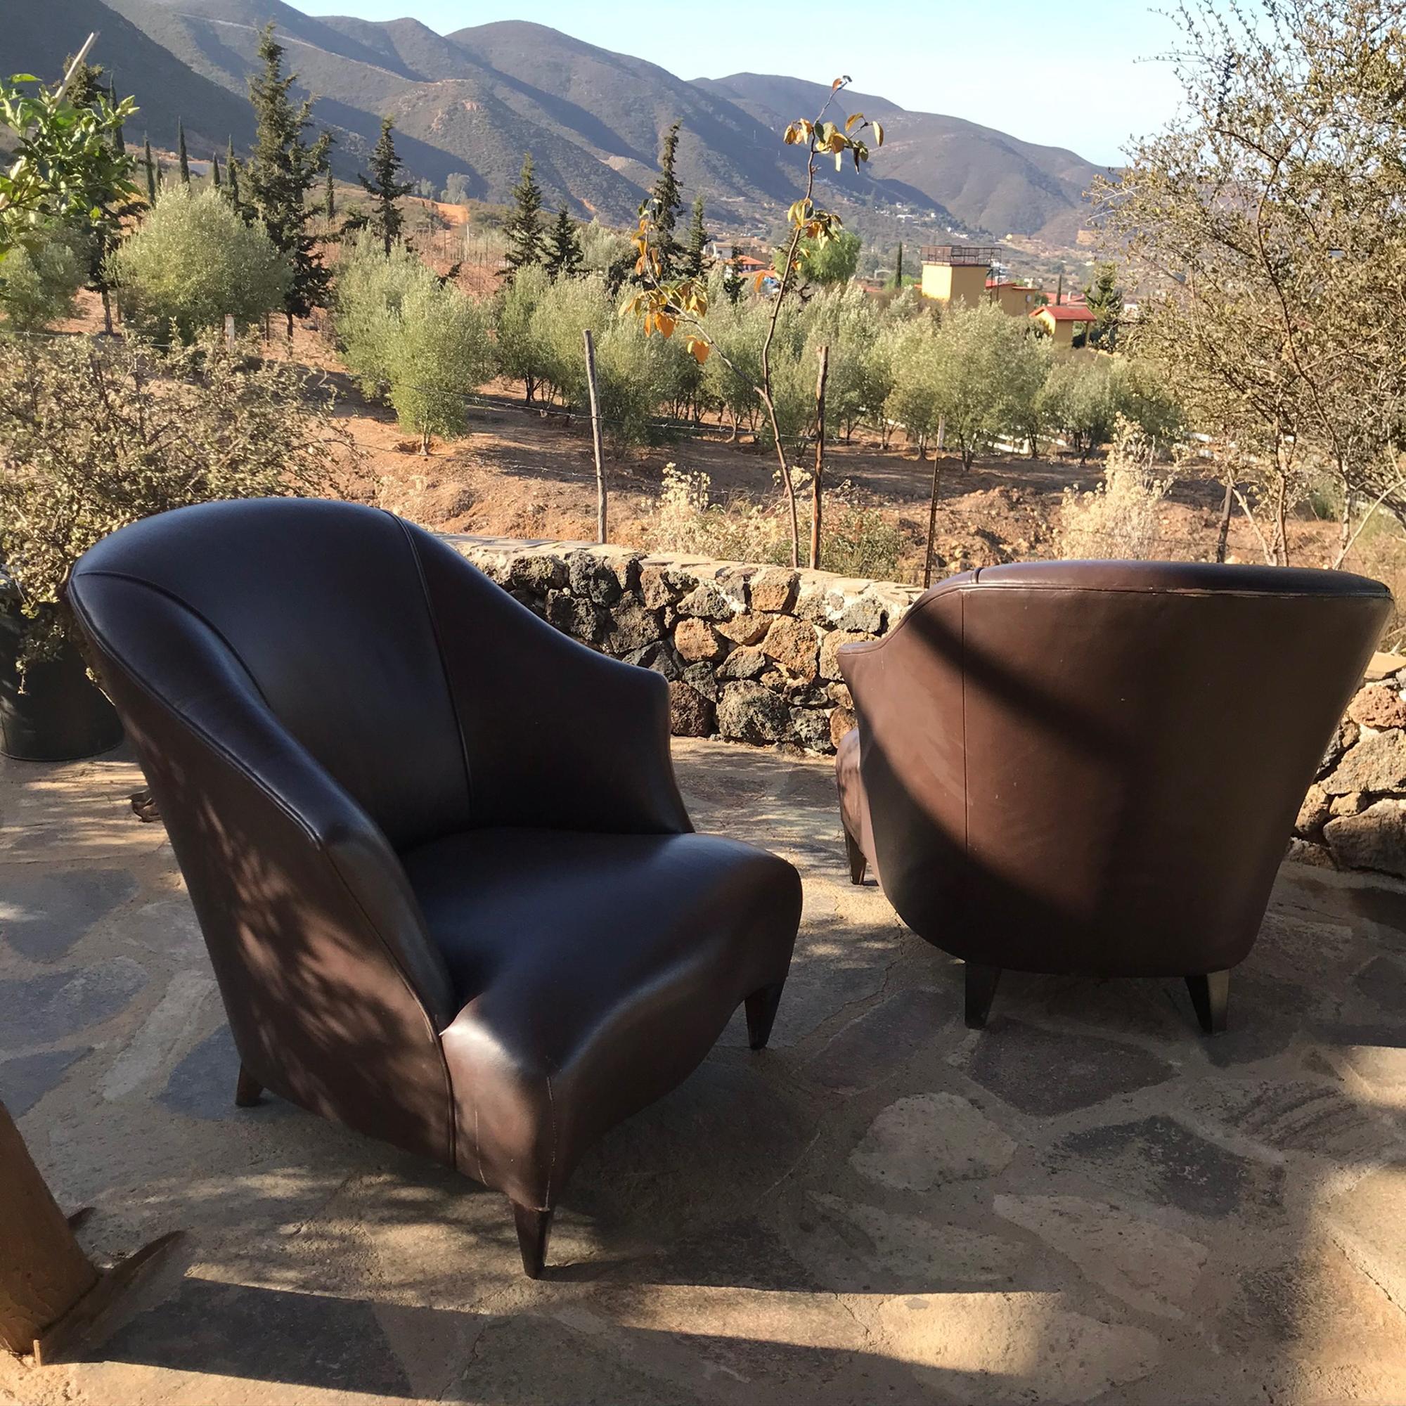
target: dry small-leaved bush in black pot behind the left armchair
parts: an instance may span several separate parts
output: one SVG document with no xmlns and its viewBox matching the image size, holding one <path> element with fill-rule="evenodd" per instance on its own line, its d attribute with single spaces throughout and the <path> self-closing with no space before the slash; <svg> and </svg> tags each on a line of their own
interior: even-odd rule
<svg viewBox="0 0 1406 1406">
<path fill-rule="evenodd" d="M 94 755 L 121 737 L 63 603 L 108 533 L 217 498 L 323 491 L 346 433 L 290 363 L 222 342 L 0 342 L 0 751 Z"/>
</svg>

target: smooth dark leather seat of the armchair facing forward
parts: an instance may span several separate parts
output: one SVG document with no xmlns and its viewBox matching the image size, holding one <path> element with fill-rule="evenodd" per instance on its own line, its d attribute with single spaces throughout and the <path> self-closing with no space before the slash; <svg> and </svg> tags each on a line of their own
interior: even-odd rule
<svg viewBox="0 0 1406 1406">
<path fill-rule="evenodd" d="M 713 835 L 505 827 L 401 858 L 463 1004 L 457 1160 L 522 1205 L 785 980 L 800 918 L 790 865 Z"/>
</svg>

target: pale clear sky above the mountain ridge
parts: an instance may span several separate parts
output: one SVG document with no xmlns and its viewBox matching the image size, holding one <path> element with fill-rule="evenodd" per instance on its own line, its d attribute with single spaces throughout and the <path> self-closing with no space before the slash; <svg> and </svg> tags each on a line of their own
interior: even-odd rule
<svg viewBox="0 0 1406 1406">
<path fill-rule="evenodd" d="M 1171 22 L 1146 0 L 870 0 L 835 24 L 776 37 L 785 7 L 679 0 L 291 0 L 308 14 L 413 15 L 447 34 L 491 20 L 534 20 L 633 53 L 679 77 L 787 73 L 949 112 L 1012 136 L 1119 160 L 1129 134 L 1160 127 L 1175 90 L 1156 60 Z M 818 8 L 818 7 L 817 7 Z M 853 18 L 851 18 L 851 15 Z"/>
</svg>

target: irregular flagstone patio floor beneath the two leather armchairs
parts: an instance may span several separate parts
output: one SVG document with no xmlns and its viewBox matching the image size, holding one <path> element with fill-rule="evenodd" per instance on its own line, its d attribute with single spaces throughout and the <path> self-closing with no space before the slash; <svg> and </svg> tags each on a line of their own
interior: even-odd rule
<svg viewBox="0 0 1406 1406">
<path fill-rule="evenodd" d="M 1213 1040 L 1177 981 L 1014 974 L 976 1033 L 848 883 L 828 763 L 676 759 L 700 830 L 800 866 L 796 963 L 766 1053 L 735 1019 L 581 1167 L 536 1284 L 502 1197 L 233 1107 L 129 761 L 0 763 L 0 1097 L 94 1256 L 188 1232 L 0 1399 L 1406 1402 L 1406 891 L 1285 868 Z"/>
</svg>

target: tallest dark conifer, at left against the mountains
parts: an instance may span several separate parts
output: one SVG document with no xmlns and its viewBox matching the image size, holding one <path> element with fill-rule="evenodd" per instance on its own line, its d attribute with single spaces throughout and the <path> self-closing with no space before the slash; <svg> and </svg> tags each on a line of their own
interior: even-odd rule
<svg viewBox="0 0 1406 1406">
<path fill-rule="evenodd" d="M 329 132 L 312 145 L 304 129 L 312 125 L 312 103 L 294 105 L 288 90 L 297 73 L 283 73 L 283 45 L 273 37 L 273 24 L 259 37 L 263 72 L 249 80 L 249 100 L 259 131 L 245 172 L 247 198 L 263 221 L 274 247 L 288 260 L 292 280 L 283 311 L 292 336 L 292 319 L 307 316 L 326 297 L 332 271 L 318 257 L 318 238 L 308 232 L 308 191 L 326 170 Z"/>
</svg>

